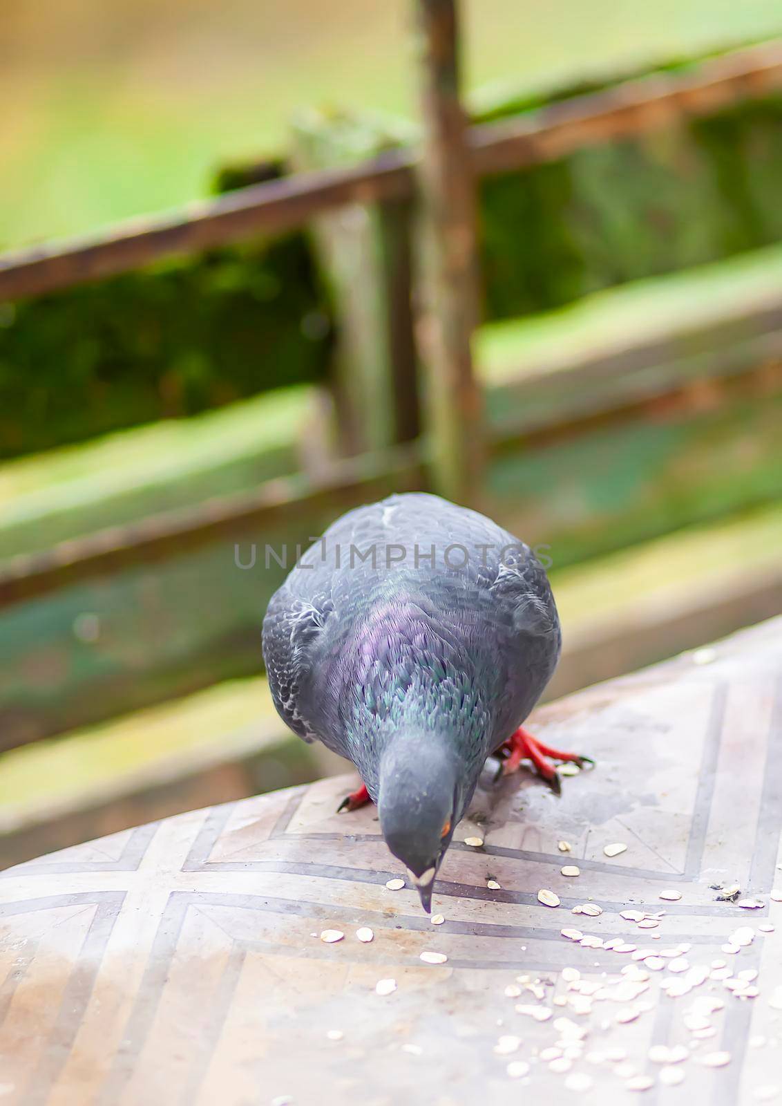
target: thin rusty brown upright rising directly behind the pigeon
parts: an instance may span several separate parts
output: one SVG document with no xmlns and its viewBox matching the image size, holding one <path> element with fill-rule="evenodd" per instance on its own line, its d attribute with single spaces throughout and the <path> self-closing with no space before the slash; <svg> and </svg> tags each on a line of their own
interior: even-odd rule
<svg viewBox="0 0 782 1106">
<path fill-rule="evenodd" d="M 459 101 L 455 0 L 415 0 L 421 41 L 423 362 L 435 489 L 475 502 L 483 469 L 480 392 L 471 338 L 478 316 L 477 200 Z"/>
</svg>

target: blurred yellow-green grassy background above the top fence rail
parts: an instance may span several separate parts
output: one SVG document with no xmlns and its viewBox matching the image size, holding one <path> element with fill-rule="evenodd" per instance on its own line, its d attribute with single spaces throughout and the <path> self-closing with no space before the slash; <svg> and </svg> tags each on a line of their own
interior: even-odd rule
<svg viewBox="0 0 782 1106">
<path fill-rule="evenodd" d="M 463 0 L 467 86 L 782 31 L 778 0 Z M 305 104 L 415 111 L 412 0 L 3 0 L 0 248 L 205 191 Z"/>
</svg>

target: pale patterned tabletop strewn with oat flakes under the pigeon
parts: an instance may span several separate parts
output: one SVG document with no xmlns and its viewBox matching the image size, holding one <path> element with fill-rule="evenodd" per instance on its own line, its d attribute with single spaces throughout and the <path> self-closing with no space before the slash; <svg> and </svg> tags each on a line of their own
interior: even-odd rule
<svg viewBox="0 0 782 1106">
<path fill-rule="evenodd" d="M 442 925 L 355 776 L 0 873 L 0 1104 L 782 1103 L 782 622 L 530 729 L 598 766 L 478 791 Z"/>
</svg>

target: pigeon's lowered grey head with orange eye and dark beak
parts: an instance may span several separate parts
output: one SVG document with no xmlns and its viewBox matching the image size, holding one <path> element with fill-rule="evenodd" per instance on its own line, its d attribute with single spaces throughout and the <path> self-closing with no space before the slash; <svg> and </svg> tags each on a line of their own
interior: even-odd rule
<svg viewBox="0 0 782 1106">
<path fill-rule="evenodd" d="M 464 813 L 459 780 L 464 773 L 453 743 L 432 732 L 395 734 L 380 762 L 380 828 L 410 870 L 427 914 L 434 878 Z"/>
</svg>

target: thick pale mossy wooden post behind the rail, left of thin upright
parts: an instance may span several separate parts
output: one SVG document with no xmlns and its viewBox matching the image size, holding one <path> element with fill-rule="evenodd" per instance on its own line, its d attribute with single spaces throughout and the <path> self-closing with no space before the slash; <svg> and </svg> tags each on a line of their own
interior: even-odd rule
<svg viewBox="0 0 782 1106">
<path fill-rule="evenodd" d="M 381 124 L 372 132 L 360 116 L 306 112 L 294 124 L 292 163 L 298 170 L 344 169 L 360 156 L 359 136 L 367 152 L 399 155 L 400 138 Z M 340 456 L 385 449 L 420 434 L 412 226 L 412 175 L 406 196 L 370 196 L 311 223 L 337 317 L 329 383 L 331 438 Z"/>
</svg>

